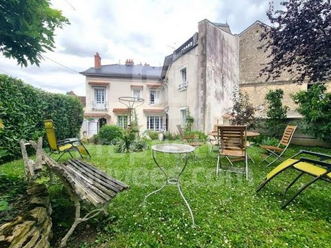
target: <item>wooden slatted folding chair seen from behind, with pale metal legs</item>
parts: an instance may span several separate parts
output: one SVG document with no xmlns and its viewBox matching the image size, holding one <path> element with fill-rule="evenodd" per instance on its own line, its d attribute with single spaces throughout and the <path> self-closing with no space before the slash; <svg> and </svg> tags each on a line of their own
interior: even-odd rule
<svg viewBox="0 0 331 248">
<path fill-rule="evenodd" d="M 246 125 L 219 125 L 217 127 L 219 134 L 219 155 L 217 157 L 216 174 L 219 174 L 219 169 L 245 173 L 248 180 L 248 156 L 246 149 Z M 221 156 L 225 156 L 232 167 L 221 166 Z M 234 158 L 233 158 L 234 157 Z M 235 161 L 245 161 L 245 168 L 240 169 L 233 167 Z"/>
</svg>

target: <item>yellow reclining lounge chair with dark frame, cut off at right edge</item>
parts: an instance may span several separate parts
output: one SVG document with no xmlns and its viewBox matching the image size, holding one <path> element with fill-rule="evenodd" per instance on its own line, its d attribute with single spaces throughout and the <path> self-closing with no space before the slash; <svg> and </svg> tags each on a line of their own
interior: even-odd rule
<svg viewBox="0 0 331 248">
<path fill-rule="evenodd" d="M 299 159 L 296 158 L 298 156 L 302 156 L 303 154 L 315 156 L 319 158 L 319 160 L 305 157 L 301 157 Z M 331 183 L 331 163 L 325 162 L 326 160 L 331 160 L 331 156 L 327 154 L 301 150 L 299 153 L 292 156 L 292 158 L 287 159 L 286 161 L 272 169 L 272 171 L 269 172 L 267 176 L 265 176 L 265 179 L 257 188 L 257 192 L 259 192 L 270 180 L 272 180 L 272 178 L 285 171 L 285 169 L 297 169 L 300 174 L 296 178 L 294 178 L 294 180 L 292 180 L 290 185 L 288 185 L 288 187 L 286 187 L 283 192 L 281 208 L 285 208 L 288 204 L 292 202 L 292 200 L 294 200 L 294 198 L 296 198 L 301 192 L 303 192 L 305 188 L 312 185 L 312 183 L 316 182 L 317 180 L 321 179 Z M 312 176 L 312 180 L 310 180 L 308 183 L 305 183 L 305 185 L 300 187 L 297 192 L 293 194 L 292 197 L 290 197 L 290 199 L 286 200 L 288 189 L 290 189 L 290 187 L 292 187 L 292 185 L 294 185 L 294 183 L 304 174 Z"/>
</svg>

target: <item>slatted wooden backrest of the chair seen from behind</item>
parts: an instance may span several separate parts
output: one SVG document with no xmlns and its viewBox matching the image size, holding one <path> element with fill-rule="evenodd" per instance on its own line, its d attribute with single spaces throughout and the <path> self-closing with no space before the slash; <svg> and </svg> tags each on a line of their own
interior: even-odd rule
<svg viewBox="0 0 331 248">
<path fill-rule="evenodd" d="M 219 125 L 220 152 L 233 156 L 246 155 L 246 125 Z"/>
</svg>

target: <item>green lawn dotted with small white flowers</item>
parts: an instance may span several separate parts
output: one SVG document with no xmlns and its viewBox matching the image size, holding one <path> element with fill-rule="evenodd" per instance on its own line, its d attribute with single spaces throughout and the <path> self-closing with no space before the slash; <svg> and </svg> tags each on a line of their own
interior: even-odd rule
<svg viewBox="0 0 331 248">
<path fill-rule="evenodd" d="M 319 147 L 290 146 L 285 157 L 299 149 L 331 154 L 329 149 Z M 330 247 L 327 245 L 331 232 L 330 184 L 315 183 L 282 210 L 281 194 L 297 172 L 288 170 L 280 174 L 256 194 L 257 185 L 272 169 L 260 164 L 263 156 L 259 147 L 249 150 L 255 161 L 249 162 L 249 181 L 240 174 L 216 176 L 217 154 L 210 153 L 208 145 L 197 149 L 199 161 L 191 158 L 181 177 L 183 194 L 194 213 L 197 225 L 194 229 L 188 209 L 174 186 L 150 196 L 146 207 L 142 207 L 144 196 L 163 183 L 150 149 L 114 154 L 110 146 L 88 145 L 88 150 L 92 154 L 90 163 L 130 185 L 130 189 L 112 200 L 108 218 L 90 222 L 90 228 L 83 224 L 70 239 L 70 247 Z M 173 170 L 174 156 L 158 155 L 160 163 Z M 21 177 L 22 161 L 2 165 L 0 172 L 11 178 Z M 298 185 L 307 180 L 308 176 L 303 177 Z M 53 218 L 54 226 L 60 223 L 56 229 L 60 232 L 70 225 L 66 213 L 67 216 L 72 213 L 68 202 L 57 200 L 63 197 L 63 192 L 61 187 L 51 191 L 57 205 L 53 214 L 60 211 Z M 97 235 L 92 236 L 89 229 L 95 229 Z"/>
</svg>

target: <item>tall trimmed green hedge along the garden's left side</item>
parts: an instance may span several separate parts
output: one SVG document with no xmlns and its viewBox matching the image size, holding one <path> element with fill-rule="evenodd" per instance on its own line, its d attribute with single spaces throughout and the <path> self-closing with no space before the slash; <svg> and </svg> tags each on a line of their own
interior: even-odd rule
<svg viewBox="0 0 331 248">
<path fill-rule="evenodd" d="M 83 105 L 76 96 L 53 94 L 19 79 L 0 74 L 0 148 L 7 156 L 0 163 L 21 156 L 19 140 L 43 136 L 43 120 L 52 119 L 58 139 L 75 137 L 83 122 Z M 2 161 L 1 161 L 2 159 Z"/>
</svg>

